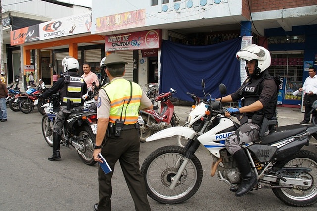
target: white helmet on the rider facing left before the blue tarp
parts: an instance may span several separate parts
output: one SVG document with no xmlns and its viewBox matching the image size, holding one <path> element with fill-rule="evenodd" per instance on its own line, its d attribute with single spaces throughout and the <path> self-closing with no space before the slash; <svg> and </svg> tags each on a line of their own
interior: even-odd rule
<svg viewBox="0 0 317 211">
<path fill-rule="evenodd" d="M 271 55 L 267 49 L 256 44 L 250 44 L 237 52 L 237 59 L 241 60 L 257 60 L 258 63 L 254 69 L 254 75 L 260 75 L 261 72 L 266 70 L 271 65 Z M 249 74 L 248 68 L 246 72 Z"/>
</svg>

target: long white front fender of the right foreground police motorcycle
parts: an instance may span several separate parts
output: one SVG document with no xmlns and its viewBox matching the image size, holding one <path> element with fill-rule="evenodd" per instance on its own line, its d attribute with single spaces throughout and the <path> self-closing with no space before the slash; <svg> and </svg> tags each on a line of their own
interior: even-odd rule
<svg viewBox="0 0 317 211">
<path fill-rule="evenodd" d="M 149 142 L 149 141 L 154 141 L 158 139 L 172 137 L 175 135 L 185 136 L 186 138 L 193 138 L 195 135 L 195 131 L 189 127 L 181 127 L 181 126 L 169 127 L 167 129 L 160 130 L 159 132 L 149 136 L 148 138 L 146 138 L 145 141 Z"/>
</svg>

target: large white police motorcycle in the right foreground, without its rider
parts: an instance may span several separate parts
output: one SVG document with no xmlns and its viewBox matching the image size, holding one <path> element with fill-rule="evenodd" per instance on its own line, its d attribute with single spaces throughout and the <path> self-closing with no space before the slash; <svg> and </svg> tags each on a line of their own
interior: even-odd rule
<svg viewBox="0 0 317 211">
<path fill-rule="evenodd" d="M 202 85 L 204 88 L 203 82 Z M 222 95 L 226 93 L 223 84 L 219 90 Z M 200 107 L 190 120 L 192 127 L 167 128 L 146 139 L 149 142 L 174 135 L 189 139 L 185 148 L 164 146 L 153 151 L 141 166 L 148 195 L 160 203 L 184 202 L 199 189 L 203 168 L 195 152 L 200 145 L 211 155 L 211 176 L 217 173 L 220 181 L 234 188 L 241 182 L 233 156 L 224 143 L 239 124 L 224 116 L 221 100 L 201 106 L 205 109 Z M 313 205 L 317 202 L 317 155 L 301 148 L 309 145 L 312 136 L 317 138 L 317 125 L 281 126 L 262 136 L 276 124 L 277 120 L 263 121 L 261 138 L 242 146 L 258 179 L 253 189 L 270 188 L 287 205 Z"/>
</svg>

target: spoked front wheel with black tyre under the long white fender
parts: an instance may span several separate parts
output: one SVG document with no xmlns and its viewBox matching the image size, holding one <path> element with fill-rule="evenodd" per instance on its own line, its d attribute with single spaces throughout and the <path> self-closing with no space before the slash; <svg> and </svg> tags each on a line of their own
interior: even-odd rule
<svg viewBox="0 0 317 211">
<path fill-rule="evenodd" d="M 185 149 L 179 146 L 164 146 L 153 151 L 143 162 L 141 173 L 148 195 L 163 204 L 178 204 L 191 198 L 203 179 L 203 168 L 193 155 L 175 188 L 169 189 L 171 179 L 177 174 L 177 164 L 182 163 Z M 179 163 L 180 162 L 180 163 Z"/>
</svg>

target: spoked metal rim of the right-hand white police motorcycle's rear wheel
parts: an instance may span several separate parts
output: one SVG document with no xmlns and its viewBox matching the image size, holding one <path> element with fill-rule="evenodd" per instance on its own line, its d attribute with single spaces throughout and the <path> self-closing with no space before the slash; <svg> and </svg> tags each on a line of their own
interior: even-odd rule
<svg viewBox="0 0 317 211">
<path fill-rule="evenodd" d="M 296 201 L 305 201 L 317 195 L 317 163 L 309 158 L 296 158 L 289 161 L 285 167 L 310 168 L 310 172 L 302 172 L 298 175 L 300 179 L 312 180 L 310 187 L 297 186 L 296 189 L 282 188 L 281 191 L 290 199 Z M 302 192 L 302 193 L 300 193 Z"/>
</svg>

